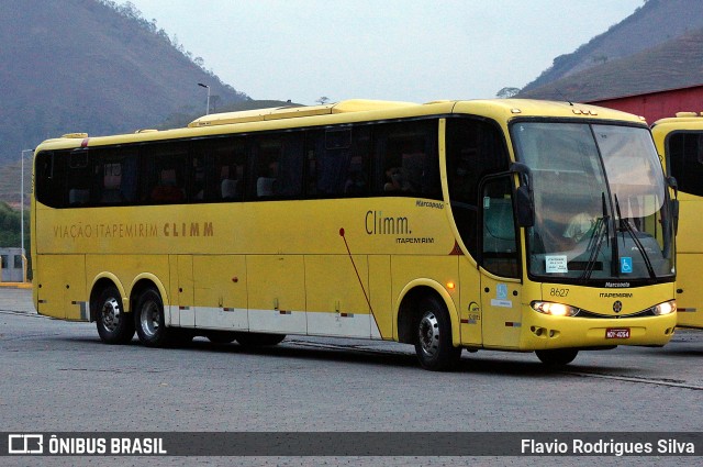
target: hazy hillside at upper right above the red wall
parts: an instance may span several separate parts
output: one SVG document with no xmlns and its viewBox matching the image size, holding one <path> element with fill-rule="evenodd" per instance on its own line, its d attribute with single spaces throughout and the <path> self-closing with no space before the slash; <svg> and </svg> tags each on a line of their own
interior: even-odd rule
<svg viewBox="0 0 703 467">
<path fill-rule="evenodd" d="M 703 82 L 703 1 L 648 0 L 525 86 L 518 98 L 589 101 Z"/>
</svg>

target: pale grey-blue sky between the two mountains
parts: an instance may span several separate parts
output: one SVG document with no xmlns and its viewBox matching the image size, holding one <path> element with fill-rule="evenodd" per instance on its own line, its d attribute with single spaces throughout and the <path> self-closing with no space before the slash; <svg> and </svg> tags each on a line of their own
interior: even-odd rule
<svg viewBox="0 0 703 467">
<path fill-rule="evenodd" d="M 644 0 L 131 3 L 237 91 L 314 104 L 322 97 L 493 98 L 533 81 L 555 57 L 606 32 Z"/>
</svg>

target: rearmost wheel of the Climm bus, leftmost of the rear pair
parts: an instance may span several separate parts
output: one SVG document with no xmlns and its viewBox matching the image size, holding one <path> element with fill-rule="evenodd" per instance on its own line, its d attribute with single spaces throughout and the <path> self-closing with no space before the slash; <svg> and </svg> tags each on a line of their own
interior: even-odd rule
<svg viewBox="0 0 703 467">
<path fill-rule="evenodd" d="M 100 340 L 107 344 L 125 344 L 134 336 L 134 320 L 122 309 L 116 287 L 103 289 L 96 301 L 96 325 Z"/>
</svg>

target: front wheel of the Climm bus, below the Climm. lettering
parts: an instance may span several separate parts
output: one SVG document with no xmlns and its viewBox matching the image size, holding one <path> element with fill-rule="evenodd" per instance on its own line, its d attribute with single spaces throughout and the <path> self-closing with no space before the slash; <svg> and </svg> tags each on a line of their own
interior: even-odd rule
<svg viewBox="0 0 703 467">
<path fill-rule="evenodd" d="M 451 322 L 443 303 L 436 298 L 421 302 L 415 353 L 420 365 L 434 371 L 450 370 L 461 357 L 461 347 L 451 345 Z"/>
</svg>

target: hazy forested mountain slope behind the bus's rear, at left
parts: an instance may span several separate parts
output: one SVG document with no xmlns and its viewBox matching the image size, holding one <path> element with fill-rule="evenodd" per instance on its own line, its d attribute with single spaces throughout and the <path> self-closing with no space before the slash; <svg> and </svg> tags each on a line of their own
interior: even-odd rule
<svg viewBox="0 0 703 467">
<path fill-rule="evenodd" d="M 132 132 L 202 113 L 199 82 L 217 108 L 250 100 L 129 2 L 3 0 L 1 11 L 0 165 L 63 133 Z"/>
</svg>

